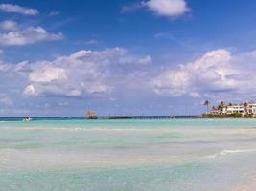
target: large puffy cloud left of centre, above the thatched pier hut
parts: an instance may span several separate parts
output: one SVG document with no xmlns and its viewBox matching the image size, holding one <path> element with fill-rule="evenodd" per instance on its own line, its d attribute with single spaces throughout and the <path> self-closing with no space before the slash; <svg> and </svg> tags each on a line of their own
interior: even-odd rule
<svg viewBox="0 0 256 191">
<path fill-rule="evenodd" d="M 68 56 L 59 56 L 54 61 L 39 61 L 30 64 L 29 84 L 24 89 L 26 96 L 101 96 L 111 92 L 115 78 L 114 70 L 130 64 L 132 57 L 123 48 L 104 51 L 81 50 Z M 134 62 L 148 62 L 149 57 L 134 57 Z M 29 64 L 26 64 L 29 65 Z"/>
</svg>

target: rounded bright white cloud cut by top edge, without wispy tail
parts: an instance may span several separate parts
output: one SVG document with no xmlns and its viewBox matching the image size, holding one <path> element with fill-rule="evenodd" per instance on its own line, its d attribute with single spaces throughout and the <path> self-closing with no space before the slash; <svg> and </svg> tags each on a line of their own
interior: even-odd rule
<svg viewBox="0 0 256 191">
<path fill-rule="evenodd" d="M 185 0 L 149 0 L 143 3 L 158 15 L 174 17 L 189 11 Z"/>
</svg>

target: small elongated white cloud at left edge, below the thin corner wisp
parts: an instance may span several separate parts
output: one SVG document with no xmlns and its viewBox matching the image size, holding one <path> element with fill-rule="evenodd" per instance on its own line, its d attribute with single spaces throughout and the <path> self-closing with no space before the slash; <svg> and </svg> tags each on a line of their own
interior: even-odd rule
<svg viewBox="0 0 256 191">
<path fill-rule="evenodd" d="M 45 40 L 60 40 L 62 38 L 63 35 L 61 33 L 50 33 L 42 27 L 29 27 L 23 30 L 0 33 L 0 45 L 21 46 Z"/>
</svg>

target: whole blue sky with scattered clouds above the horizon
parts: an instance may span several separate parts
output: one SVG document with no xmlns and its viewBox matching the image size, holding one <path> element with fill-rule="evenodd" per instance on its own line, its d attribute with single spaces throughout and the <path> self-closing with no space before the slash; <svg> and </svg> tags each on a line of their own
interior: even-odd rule
<svg viewBox="0 0 256 191">
<path fill-rule="evenodd" d="M 0 0 L 0 117 L 198 115 L 256 101 L 254 0 Z"/>
</svg>

